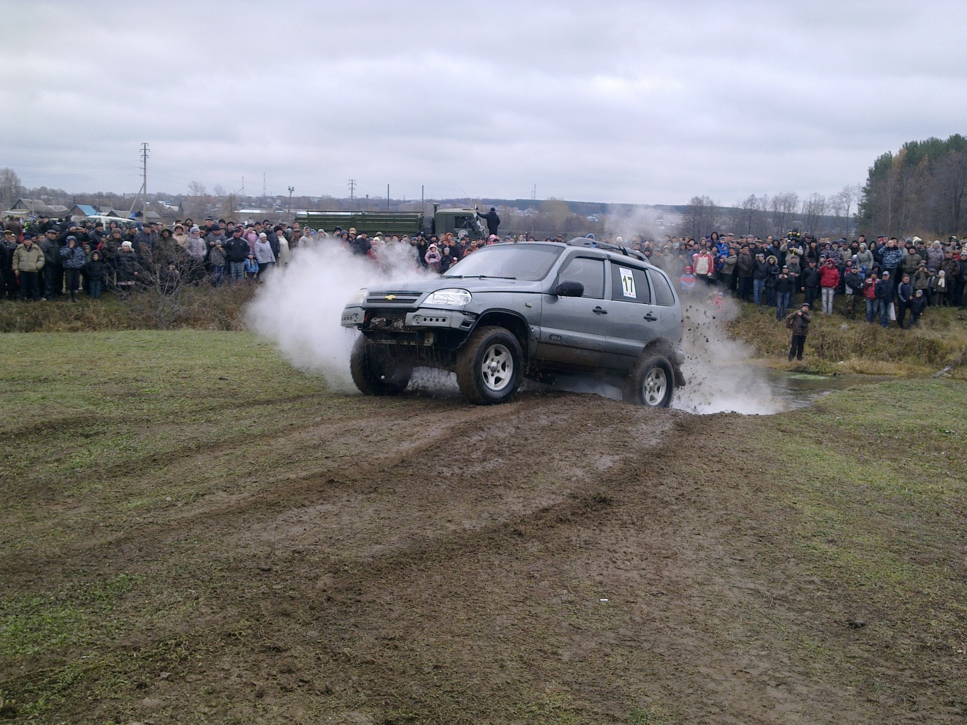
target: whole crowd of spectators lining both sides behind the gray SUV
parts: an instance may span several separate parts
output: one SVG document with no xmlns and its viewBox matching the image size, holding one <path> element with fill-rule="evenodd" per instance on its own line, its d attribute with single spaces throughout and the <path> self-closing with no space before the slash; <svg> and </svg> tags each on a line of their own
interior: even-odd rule
<svg viewBox="0 0 967 725">
<path fill-rule="evenodd" d="M 376 260 L 387 246 L 411 246 L 420 265 L 444 273 L 480 246 L 528 239 L 501 238 L 496 234 L 499 217 L 482 217 L 491 233 L 477 240 L 465 230 L 370 238 L 353 228 L 329 233 L 268 219 L 236 223 L 209 217 L 196 225 L 188 218 L 170 226 L 132 220 L 105 226 L 47 217 L 23 223 L 8 217 L 0 243 L 0 299 L 67 296 L 76 301 L 81 290 L 95 299 L 104 290 L 127 297 L 148 285 L 170 287 L 179 280 L 214 286 L 254 283 L 276 265 L 288 264 L 300 246 L 320 244 L 338 244 Z M 889 327 L 895 321 L 903 328 L 907 315 L 910 324 L 917 324 L 930 305 L 963 308 L 967 303 L 967 238 L 928 245 L 919 237 L 867 242 L 860 235 L 852 242 L 834 242 L 794 229 L 765 240 L 713 232 L 698 241 L 670 236 L 613 241 L 640 251 L 678 279 L 684 295 L 711 293 L 718 304 L 731 296 L 769 305 L 777 320 L 802 303 L 811 307 L 817 301 L 823 312 L 833 314 L 841 296 L 843 313 L 855 316 L 859 306 L 867 322 Z"/>
</svg>

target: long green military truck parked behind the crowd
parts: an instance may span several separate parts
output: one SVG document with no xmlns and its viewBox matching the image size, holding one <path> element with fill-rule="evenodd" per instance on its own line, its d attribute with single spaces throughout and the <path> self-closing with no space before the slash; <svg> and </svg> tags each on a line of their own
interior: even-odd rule
<svg viewBox="0 0 967 725">
<path fill-rule="evenodd" d="M 443 236 L 453 232 L 454 237 L 465 230 L 470 239 L 485 239 L 486 225 L 469 207 L 440 209 L 433 205 L 433 214 L 422 212 L 323 212 L 307 211 L 296 215 L 296 221 L 312 229 L 325 229 L 327 232 L 339 227 L 343 231 L 353 227 L 357 232 L 366 232 L 370 237 L 377 233 L 404 234 L 414 237 L 423 232 Z"/>
</svg>

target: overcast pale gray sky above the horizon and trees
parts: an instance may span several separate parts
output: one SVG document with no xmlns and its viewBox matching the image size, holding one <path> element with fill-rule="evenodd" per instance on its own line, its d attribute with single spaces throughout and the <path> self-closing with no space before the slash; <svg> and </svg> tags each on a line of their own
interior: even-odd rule
<svg viewBox="0 0 967 725">
<path fill-rule="evenodd" d="M 685 203 L 967 132 L 964 2 L 0 0 L 30 187 Z"/>
</svg>

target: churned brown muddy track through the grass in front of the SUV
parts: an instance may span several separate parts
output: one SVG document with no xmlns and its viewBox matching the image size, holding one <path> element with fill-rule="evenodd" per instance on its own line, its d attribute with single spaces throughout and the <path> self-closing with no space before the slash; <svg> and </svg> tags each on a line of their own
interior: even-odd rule
<svg viewBox="0 0 967 725">
<path fill-rule="evenodd" d="M 403 399 L 353 420 L 370 448 L 348 461 L 97 537 L 62 569 L 53 557 L 21 564 L 64 577 L 78 563 L 140 571 L 179 591 L 203 586 L 193 564 L 228 572 L 203 617 L 123 645 L 150 650 L 177 632 L 198 647 L 198 680 L 167 690 L 178 712 L 894 721 L 837 683 L 837 663 L 800 651 L 835 636 L 843 605 L 770 559 L 781 520 L 735 495 L 744 479 L 718 442 L 753 432 L 754 419 L 554 393 L 489 409 Z M 337 446 L 333 432 L 294 438 Z M 227 674 L 213 696 L 204 685 L 217 668 Z M 254 681 L 265 683 L 258 708 Z"/>
</svg>

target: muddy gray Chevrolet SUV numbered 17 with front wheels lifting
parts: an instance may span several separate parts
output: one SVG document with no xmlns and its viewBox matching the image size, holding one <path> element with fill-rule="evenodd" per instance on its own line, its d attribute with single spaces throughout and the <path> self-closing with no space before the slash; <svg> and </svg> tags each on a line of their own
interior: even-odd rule
<svg viewBox="0 0 967 725">
<path fill-rule="evenodd" d="M 342 326 L 362 333 L 350 367 L 368 395 L 399 394 L 417 366 L 453 370 L 480 405 L 561 373 L 655 407 L 685 385 L 675 286 L 644 255 L 590 239 L 484 246 L 439 277 L 360 290 Z"/>
</svg>

